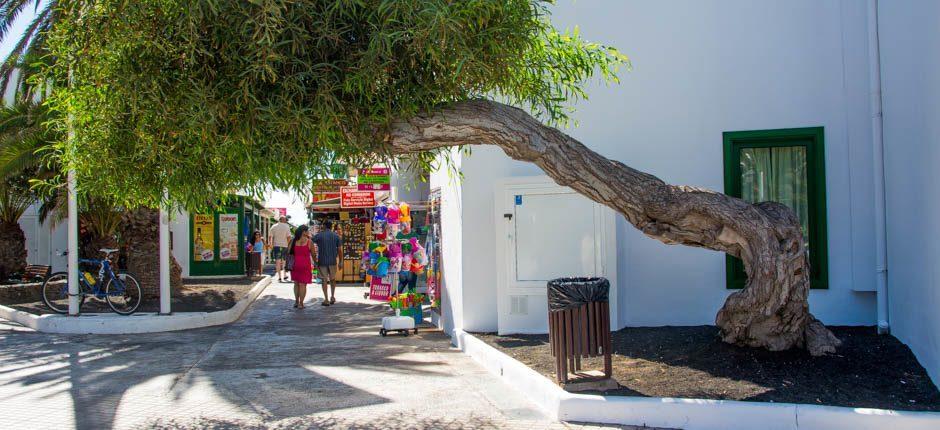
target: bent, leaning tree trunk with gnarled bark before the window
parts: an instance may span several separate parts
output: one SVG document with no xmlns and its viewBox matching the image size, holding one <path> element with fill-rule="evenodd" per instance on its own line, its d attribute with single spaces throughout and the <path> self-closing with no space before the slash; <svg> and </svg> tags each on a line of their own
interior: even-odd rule
<svg viewBox="0 0 940 430">
<path fill-rule="evenodd" d="M 750 204 L 714 191 L 669 185 L 588 149 L 521 109 L 460 102 L 396 121 L 385 137 L 392 154 L 458 145 L 496 145 L 538 165 L 559 185 L 620 212 L 667 244 L 722 251 L 744 261 L 745 288 L 728 297 L 716 324 L 728 343 L 773 351 L 834 352 L 839 340 L 809 312 L 809 261 L 799 221 L 772 202 Z"/>
</svg>

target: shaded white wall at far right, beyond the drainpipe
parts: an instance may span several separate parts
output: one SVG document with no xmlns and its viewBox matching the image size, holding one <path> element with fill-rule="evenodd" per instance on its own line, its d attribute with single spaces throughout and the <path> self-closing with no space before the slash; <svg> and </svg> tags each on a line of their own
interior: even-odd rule
<svg viewBox="0 0 940 430">
<path fill-rule="evenodd" d="M 940 382 L 940 2 L 881 1 L 891 332 Z"/>
</svg>

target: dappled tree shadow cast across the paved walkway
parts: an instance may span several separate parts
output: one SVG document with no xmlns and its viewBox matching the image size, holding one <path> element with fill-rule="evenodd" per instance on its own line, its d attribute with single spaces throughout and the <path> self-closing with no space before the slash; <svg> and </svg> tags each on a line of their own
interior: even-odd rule
<svg viewBox="0 0 940 430">
<path fill-rule="evenodd" d="M 377 327 L 377 308 L 373 305 L 346 304 L 346 309 L 337 308 L 337 315 L 314 316 L 291 309 L 291 303 L 289 299 L 262 296 L 253 309 L 282 308 L 284 312 L 273 316 L 268 315 L 270 312 L 249 312 L 233 325 L 181 332 L 117 336 L 0 332 L 0 388 L 16 396 L 42 389 L 46 398 L 67 392 L 71 404 L 56 406 L 71 408 L 80 429 L 114 427 L 119 407 L 124 417 L 133 414 L 136 406 L 142 412 L 156 406 L 139 397 L 135 400 L 144 404 L 128 405 L 124 400 L 128 391 L 161 377 L 166 380 L 164 384 L 169 384 L 164 388 L 170 393 L 169 401 L 209 395 L 217 402 L 221 399 L 219 407 L 234 407 L 265 420 L 281 420 L 390 402 L 311 367 L 346 366 L 427 375 L 439 364 L 397 358 L 419 348 L 382 339 L 377 332 L 366 336 L 367 325 Z M 345 314 L 350 312 L 365 315 L 349 318 Z M 318 327 L 323 318 L 336 321 Z M 301 329 L 272 336 L 272 319 L 284 319 L 279 323 Z M 345 330 L 361 331 L 362 335 L 338 333 Z M 441 341 L 421 340 L 420 336 L 408 339 Z M 370 354 L 349 354 L 349 348 L 366 344 Z"/>
</svg>

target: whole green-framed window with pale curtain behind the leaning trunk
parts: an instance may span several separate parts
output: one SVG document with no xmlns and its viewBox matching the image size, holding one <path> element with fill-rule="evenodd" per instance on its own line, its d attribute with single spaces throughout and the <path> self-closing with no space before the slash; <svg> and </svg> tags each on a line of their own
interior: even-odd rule
<svg viewBox="0 0 940 430">
<path fill-rule="evenodd" d="M 775 201 L 796 212 L 811 266 L 811 288 L 828 288 L 826 166 L 823 129 L 724 133 L 725 194 Z M 740 259 L 727 256 L 728 288 L 744 288 Z"/>
</svg>

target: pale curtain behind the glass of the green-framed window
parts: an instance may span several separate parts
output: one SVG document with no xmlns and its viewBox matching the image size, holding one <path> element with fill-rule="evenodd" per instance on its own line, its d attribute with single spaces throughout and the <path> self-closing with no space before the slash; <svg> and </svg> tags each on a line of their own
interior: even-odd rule
<svg viewBox="0 0 940 430">
<path fill-rule="evenodd" d="M 778 202 L 796 212 L 809 246 L 809 184 L 806 147 L 785 146 L 741 149 L 741 198 Z"/>
</svg>

